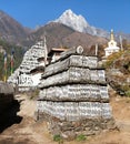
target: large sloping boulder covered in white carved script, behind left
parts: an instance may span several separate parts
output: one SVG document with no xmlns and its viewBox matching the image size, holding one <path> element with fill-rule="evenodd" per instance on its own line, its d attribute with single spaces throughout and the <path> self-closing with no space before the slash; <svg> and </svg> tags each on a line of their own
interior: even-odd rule
<svg viewBox="0 0 130 144">
<path fill-rule="evenodd" d="M 30 89 L 37 88 L 40 82 L 42 72 L 32 73 L 38 68 L 44 68 L 44 61 L 39 59 L 44 58 L 44 45 L 42 41 L 37 42 L 32 45 L 23 56 L 23 60 L 14 71 L 14 73 L 8 79 L 9 83 L 17 84 L 19 91 L 29 91 Z"/>
</svg>

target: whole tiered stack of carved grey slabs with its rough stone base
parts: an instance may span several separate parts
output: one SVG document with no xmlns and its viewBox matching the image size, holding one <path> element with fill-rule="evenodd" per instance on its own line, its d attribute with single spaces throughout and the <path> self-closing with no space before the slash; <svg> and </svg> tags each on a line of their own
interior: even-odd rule
<svg viewBox="0 0 130 144">
<path fill-rule="evenodd" d="M 82 52 L 81 47 L 63 52 L 39 84 L 39 119 L 49 122 L 52 134 L 89 135 L 113 126 L 104 70 L 96 55 Z"/>
</svg>

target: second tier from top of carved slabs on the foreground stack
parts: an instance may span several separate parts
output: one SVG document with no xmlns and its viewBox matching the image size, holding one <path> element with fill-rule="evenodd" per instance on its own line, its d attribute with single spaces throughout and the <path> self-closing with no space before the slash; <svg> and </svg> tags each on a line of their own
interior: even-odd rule
<svg viewBox="0 0 130 144">
<path fill-rule="evenodd" d="M 102 74 L 103 73 L 103 74 Z M 99 79 L 99 75 L 101 79 Z M 103 70 L 89 70 L 83 68 L 70 68 L 69 70 L 56 75 L 43 79 L 39 88 L 54 86 L 69 83 L 98 83 L 104 84 L 106 78 Z"/>
</svg>

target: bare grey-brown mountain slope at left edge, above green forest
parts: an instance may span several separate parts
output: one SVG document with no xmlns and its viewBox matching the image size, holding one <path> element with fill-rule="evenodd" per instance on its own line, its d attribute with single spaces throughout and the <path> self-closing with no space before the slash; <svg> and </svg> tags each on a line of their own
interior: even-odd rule
<svg viewBox="0 0 130 144">
<path fill-rule="evenodd" d="M 19 44 L 27 39 L 29 29 L 22 27 L 17 20 L 0 10 L 0 38 L 8 42 L 17 42 Z"/>
</svg>

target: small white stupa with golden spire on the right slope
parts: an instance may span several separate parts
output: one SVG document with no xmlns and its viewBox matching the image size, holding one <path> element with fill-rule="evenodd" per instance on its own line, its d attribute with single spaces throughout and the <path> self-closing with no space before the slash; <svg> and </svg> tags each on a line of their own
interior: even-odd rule
<svg viewBox="0 0 130 144">
<path fill-rule="evenodd" d="M 113 52 L 119 52 L 120 48 L 117 47 L 117 42 L 114 41 L 113 30 L 111 30 L 110 41 L 108 42 L 108 48 L 104 49 L 106 58 L 108 58 Z"/>
</svg>

